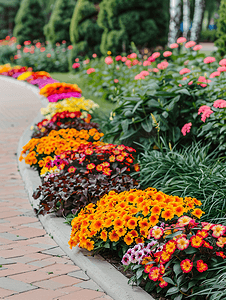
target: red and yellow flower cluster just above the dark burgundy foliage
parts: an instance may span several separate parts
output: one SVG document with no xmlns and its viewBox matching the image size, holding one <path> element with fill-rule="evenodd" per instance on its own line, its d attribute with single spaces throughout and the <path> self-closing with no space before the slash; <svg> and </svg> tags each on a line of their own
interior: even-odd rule
<svg viewBox="0 0 226 300">
<path fill-rule="evenodd" d="M 94 134 L 94 140 L 96 140 L 96 135 L 99 137 L 95 129 L 89 130 L 89 134 Z M 56 166 L 69 173 L 82 172 L 107 176 L 117 174 L 122 169 L 130 173 L 139 170 L 139 166 L 134 164 L 132 152 L 135 152 L 133 148 L 124 145 L 81 144 L 76 151 L 66 151 L 55 156 L 46 167 L 50 169 Z"/>
</svg>

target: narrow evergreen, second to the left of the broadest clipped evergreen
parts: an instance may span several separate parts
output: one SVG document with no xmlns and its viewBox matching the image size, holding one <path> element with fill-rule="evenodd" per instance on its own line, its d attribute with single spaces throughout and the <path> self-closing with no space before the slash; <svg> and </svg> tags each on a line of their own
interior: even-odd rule
<svg viewBox="0 0 226 300">
<path fill-rule="evenodd" d="M 49 23 L 44 27 L 46 39 L 53 45 L 63 40 L 70 43 L 69 27 L 75 3 L 75 0 L 56 1 Z"/>
</svg>

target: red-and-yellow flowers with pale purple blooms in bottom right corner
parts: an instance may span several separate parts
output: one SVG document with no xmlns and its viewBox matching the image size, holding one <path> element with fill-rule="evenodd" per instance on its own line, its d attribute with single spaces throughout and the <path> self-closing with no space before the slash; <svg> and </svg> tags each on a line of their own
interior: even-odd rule
<svg viewBox="0 0 226 300">
<path fill-rule="evenodd" d="M 186 281 L 193 280 L 194 285 L 186 291 L 188 296 L 201 280 L 198 274 L 207 272 L 216 260 L 220 263 L 226 258 L 225 233 L 226 227 L 221 224 L 200 222 L 185 215 L 176 224 L 154 226 L 149 234 L 151 241 L 129 248 L 122 263 L 134 271 L 139 269 L 140 274 L 151 281 L 152 289 L 157 283 L 162 288 L 162 295 L 176 285 L 180 274 L 184 274 L 180 288 L 173 294 L 174 297 L 179 295 Z"/>
</svg>

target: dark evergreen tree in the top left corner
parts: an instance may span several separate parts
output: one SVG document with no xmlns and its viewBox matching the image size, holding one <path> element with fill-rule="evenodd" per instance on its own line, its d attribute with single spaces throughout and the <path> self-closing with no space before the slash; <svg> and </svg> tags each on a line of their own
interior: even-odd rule
<svg viewBox="0 0 226 300">
<path fill-rule="evenodd" d="M 0 0 L 0 39 L 12 36 L 14 19 L 20 6 L 20 0 Z"/>
</svg>

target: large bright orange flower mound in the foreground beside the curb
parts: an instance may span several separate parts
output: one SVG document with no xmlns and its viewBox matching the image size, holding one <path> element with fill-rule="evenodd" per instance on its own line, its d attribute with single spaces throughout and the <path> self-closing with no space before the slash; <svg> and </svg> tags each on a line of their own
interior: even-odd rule
<svg viewBox="0 0 226 300">
<path fill-rule="evenodd" d="M 70 247 L 79 244 L 87 250 L 100 242 L 103 248 L 117 242 L 119 247 L 143 243 L 150 229 L 184 213 L 200 217 L 203 211 L 195 198 L 168 196 L 154 188 L 109 192 L 96 205 L 89 204 L 71 223 Z"/>
</svg>

